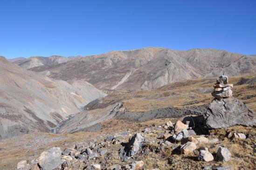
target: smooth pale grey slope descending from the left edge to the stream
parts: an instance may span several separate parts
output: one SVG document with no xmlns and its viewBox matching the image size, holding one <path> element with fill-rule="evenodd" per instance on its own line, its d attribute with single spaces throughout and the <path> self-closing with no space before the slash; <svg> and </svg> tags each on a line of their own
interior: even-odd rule
<svg viewBox="0 0 256 170">
<path fill-rule="evenodd" d="M 52 80 L 0 57 L 0 139 L 48 132 L 105 95 L 88 82 Z"/>
</svg>

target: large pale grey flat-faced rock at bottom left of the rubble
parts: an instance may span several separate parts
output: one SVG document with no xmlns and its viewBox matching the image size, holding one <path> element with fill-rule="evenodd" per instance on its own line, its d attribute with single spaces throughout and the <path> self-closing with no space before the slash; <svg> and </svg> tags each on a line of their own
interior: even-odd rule
<svg viewBox="0 0 256 170">
<path fill-rule="evenodd" d="M 39 165 L 41 170 L 54 170 L 64 161 L 61 159 L 62 150 L 59 147 L 53 147 L 42 152 L 39 157 Z"/>
</svg>

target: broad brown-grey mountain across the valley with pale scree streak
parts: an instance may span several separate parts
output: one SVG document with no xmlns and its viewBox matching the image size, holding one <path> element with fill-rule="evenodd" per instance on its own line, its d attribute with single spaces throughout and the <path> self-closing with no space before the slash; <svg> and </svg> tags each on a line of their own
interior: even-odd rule
<svg viewBox="0 0 256 170">
<path fill-rule="evenodd" d="M 142 48 L 76 57 L 30 70 L 69 82 L 84 80 L 100 89 L 155 89 L 185 79 L 256 74 L 256 56 L 213 49 Z"/>
</svg>

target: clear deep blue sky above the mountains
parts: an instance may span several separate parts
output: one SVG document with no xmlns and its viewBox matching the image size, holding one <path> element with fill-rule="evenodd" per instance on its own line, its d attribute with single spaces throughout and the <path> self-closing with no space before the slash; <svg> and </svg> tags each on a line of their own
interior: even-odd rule
<svg viewBox="0 0 256 170">
<path fill-rule="evenodd" d="M 256 54 L 256 0 L 0 0 L 0 55 L 164 47 Z"/>
</svg>

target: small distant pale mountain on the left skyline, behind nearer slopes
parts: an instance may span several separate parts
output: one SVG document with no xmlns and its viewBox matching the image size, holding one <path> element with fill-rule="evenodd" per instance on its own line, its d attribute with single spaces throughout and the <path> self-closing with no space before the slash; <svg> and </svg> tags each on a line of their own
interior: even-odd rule
<svg viewBox="0 0 256 170">
<path fill-rule="evenodd" d="M 29 57 L 25 60 L 14 61 L 15 64 L 24 69 L 34 68 L 38 66 L 52 66 L 69 61 L 69 58 L 58 55 L 50 57 Z"/>
</svg>

